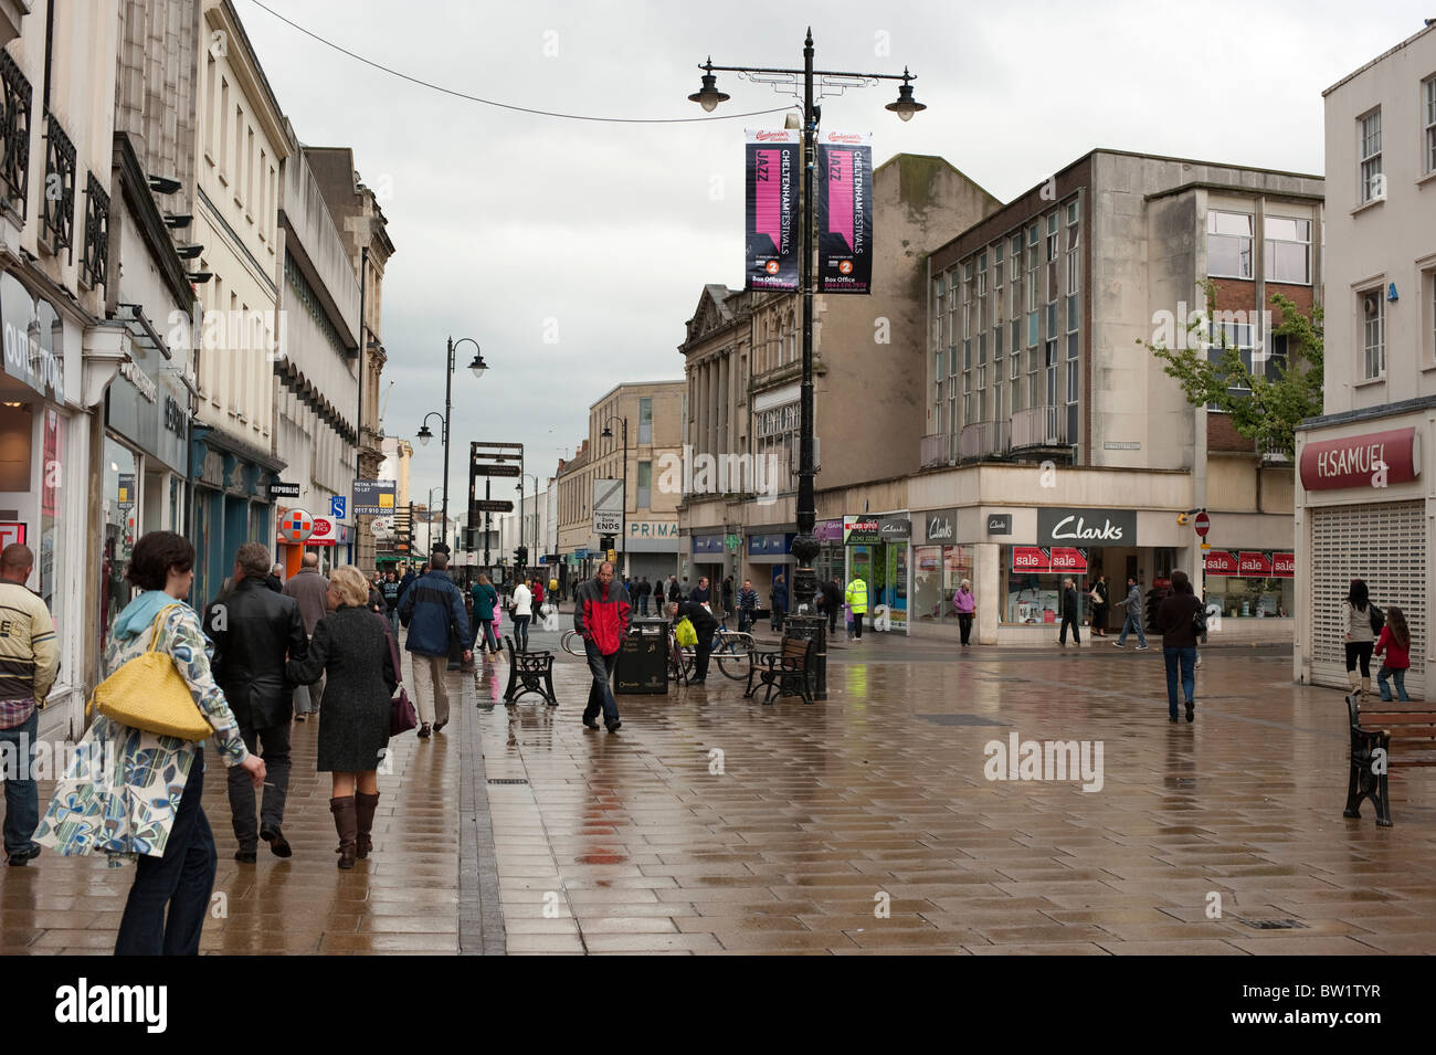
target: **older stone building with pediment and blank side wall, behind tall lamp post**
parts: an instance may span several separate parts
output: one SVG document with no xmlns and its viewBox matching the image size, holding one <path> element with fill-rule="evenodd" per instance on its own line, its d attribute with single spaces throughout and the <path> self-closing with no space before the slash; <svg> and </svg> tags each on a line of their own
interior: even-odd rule
<svg viewBox="0 0 1436 1055">
<path fill-rule="evenodd" d="M 1001 202 L 942 158 L 899 154 L 873 169 L 873 291 L 817 296 L 813 307 L 813 415 L 821 578 L 862 567 L 875 597 L 905 617 L 906 548 L 843 547 L 844 514 L 896 511 L 913 471 L 923 421 L 926 257 Z M 679 353 L 688 383 L 679 530 L 686 574 L 735 584 L 752 578 L 767 604 L 777 576 L 790 580 L 797 533 L 798 395 L 803 304 L 796 294 L 708 284 Z M 699 458 L 717 459 L 704 478 Z M 754 475 L 734 479 L 722 461 Z M 899 481 L 895 484 L 893 481 Z M 761 492 L 761 494 L 760 494 Z M 837 525 L 837 541 L 831 527 Z M 849 557 L 854 558 L 850 564 Z M 893 594 L 889 597 L 889 591 Z M 902 596 L 898 596 L 902 594 Z M 902 603 L 902 606 L 898 604 Z"/>
</svg>

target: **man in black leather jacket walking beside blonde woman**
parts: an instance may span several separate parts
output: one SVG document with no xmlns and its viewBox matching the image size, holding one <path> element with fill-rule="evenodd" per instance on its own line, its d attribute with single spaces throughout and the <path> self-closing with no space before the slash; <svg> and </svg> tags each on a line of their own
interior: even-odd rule
<svg viewBox="0 0 1436 1055">
<path fill-rule="evenodd" d="M 240 844 L 234 860 L 246 864 L 254 863 L 260 838 L 270 844 L 276 857 L 292 854 L 280 830 L 289 792 L 294 689 L 284 677 L 284 660 L 309 655 L 299 603 L 266 587 L 269 567 L 269 550 L 260 543 L 241 545 L 234 557 L 234 590 L 204 613 L 204 632 L 214 642 L 215 680 L 240 723 L 244 745 L 254 754 L 263 742 L 264 749 L 258 754 L 270 778 L 256 830 L 254 785 L 240 766 L 230 774 L 230 812 Z"/>
</svg>

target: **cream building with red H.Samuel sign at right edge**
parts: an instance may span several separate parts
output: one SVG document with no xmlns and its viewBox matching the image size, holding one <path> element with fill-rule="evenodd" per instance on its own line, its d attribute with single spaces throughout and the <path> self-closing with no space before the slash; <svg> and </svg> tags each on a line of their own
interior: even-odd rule
<svg viewBox="0 0 1436 1055">
<path fill-rule="evenodd" d="M 1325 390 L 1297 432 L 1294 673 L 1346 686 L 1341 603 L 1364 578 L 1406 616 L 1419 699 L 1436 673 L 1436 26 L 1324 95 Z"/>
</svg>

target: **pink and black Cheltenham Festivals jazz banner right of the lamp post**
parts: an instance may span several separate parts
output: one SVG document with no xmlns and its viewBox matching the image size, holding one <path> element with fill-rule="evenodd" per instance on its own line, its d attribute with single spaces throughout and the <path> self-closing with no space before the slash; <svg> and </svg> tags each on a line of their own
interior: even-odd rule
<svg viewBox="0 0 1436 1055">
<path fill-rule="evenodd" d="M 819 293 L 872 293 L 873 141 L 827 132 L 817 145 Z"/>
</svg>

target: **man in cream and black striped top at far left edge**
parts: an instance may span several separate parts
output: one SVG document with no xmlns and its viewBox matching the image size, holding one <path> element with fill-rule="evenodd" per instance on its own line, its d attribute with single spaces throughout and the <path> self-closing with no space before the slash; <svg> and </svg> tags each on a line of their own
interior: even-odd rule
<svg viewBox="0 0 1436 1055">
<path fill-rule="evenodd" d="M 40 845 L 30 837 L 40 822 L 32 778 L 37 706 L 55 683 L 60 653 L 45 601 L 26 589 L 34 554 L 13 543 L 0 550 L 0 766 L 4 768 L 4 850 L 10 864 L 29 864 Z"/>
</svg>

